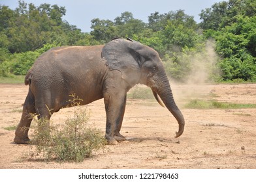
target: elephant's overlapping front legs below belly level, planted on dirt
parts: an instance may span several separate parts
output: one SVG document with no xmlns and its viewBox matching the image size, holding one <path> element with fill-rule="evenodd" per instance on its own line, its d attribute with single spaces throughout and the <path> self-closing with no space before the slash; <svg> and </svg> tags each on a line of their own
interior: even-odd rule
<svg viewBox="0 0 256 182">
<path fill-rule="evenodd" d="M 106 135 L 108 144 L 117 144 L 117 140 L 125 140 L 120 134 L 123 115 L 125 112 L 126 93 L 104 94 L 106 109 Z"/>
</svg>

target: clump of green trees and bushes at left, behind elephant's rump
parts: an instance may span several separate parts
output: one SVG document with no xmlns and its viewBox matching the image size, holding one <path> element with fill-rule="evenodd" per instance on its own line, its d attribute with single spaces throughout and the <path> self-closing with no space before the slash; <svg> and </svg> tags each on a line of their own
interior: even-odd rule
<svg viewBox="0 0 256 182">
<path fill-rule="evenodd" d="M 24 1 L 19 1 L 15 10 L 0 6 L 0 75 L 25 74 L 50 47 L 97 44 L 93 36 L 86 36 L 76 26 L 63 21 L 65 12 L 62 6 L 37 7 Z"/>
</svg>

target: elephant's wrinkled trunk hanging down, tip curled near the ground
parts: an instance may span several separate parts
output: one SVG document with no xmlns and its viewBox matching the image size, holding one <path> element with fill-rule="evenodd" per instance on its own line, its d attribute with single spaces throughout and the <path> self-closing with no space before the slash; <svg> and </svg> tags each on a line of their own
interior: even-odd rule
<svg viewBox="0 0 256 182">
<path fill-rule="evenodd" d="M 185 126 L 185 120 L 184 116 L 182 115 L 182 112 L 180 112 L 180 109 L 178 109 L 174 98 L 172 96 L 172 90 L 170 88 L 170 84 L 168 82 L 167 76 L 163 74 L 163 76 L 157 83 L 157 94 L 162 99 L 163 103 L 165 103 L 165 106 L 168 110 L 172 113 L 172 115 L 176 118 L 179 124 L 179 130 L 176 132 L 176 138 L 182 135 L 184 132 L 184 126 Z"/>
</svg>

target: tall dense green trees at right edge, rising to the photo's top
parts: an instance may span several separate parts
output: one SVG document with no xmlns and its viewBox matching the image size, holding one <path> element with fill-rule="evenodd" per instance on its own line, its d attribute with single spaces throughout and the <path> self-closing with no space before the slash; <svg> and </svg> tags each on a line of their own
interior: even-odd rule
<svg viewBox="0 0 256 182">
<path fill-rule="evenodd" d="M 200 27 L 216 40 L 223 80 L 256 81 L 256 1 L 229 0 L 202 10 Z"/>
</svg>

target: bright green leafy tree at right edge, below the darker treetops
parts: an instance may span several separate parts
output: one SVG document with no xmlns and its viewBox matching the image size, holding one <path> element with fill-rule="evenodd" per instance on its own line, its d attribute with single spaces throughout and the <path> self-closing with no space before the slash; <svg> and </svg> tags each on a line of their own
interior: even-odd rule
<svg viewBox="0 0 256 182">
<path fill-rule="evenodd" d="M 216 33 L 216 51 L 223 79 L 255 80 L 256 18 L 238 16 L 238 21 Z"/>
</svg>

